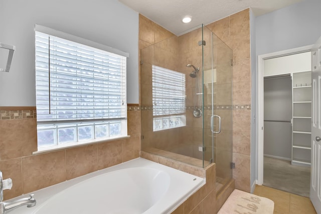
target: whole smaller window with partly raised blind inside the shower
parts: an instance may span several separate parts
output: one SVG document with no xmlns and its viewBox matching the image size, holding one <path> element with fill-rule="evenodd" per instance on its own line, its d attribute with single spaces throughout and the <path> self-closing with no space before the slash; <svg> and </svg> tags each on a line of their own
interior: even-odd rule
<svg viewBox="0 0 321 214">
<path fill-rule="evenodd" d="M 153 131 L 185 126 L 185 99 L 185 74 L 153 65 Z"/>
</svg>

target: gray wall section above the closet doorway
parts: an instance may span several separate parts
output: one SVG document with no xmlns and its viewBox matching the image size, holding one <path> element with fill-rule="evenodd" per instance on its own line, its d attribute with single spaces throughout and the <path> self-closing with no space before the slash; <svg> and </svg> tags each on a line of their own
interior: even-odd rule
<svg viewBox="0 0 321 214">
<path fill-rule="evenodd" d="M 306 0 L 256 18 L 256 55 L 312 45 L 321 36 L 321 1 Z"/>
</svg>

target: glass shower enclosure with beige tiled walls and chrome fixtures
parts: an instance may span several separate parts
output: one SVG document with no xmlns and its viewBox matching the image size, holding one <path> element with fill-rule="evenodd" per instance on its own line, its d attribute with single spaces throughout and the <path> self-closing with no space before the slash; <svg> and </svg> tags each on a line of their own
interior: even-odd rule
<svg viewBox="0 0 321 214">
<path fill-rule="evenodd" d="M 232 178 L 232 50 L 194 29 L 141 49 L 141 150 L 215 162 L 218 189 Z"/>
</svg>

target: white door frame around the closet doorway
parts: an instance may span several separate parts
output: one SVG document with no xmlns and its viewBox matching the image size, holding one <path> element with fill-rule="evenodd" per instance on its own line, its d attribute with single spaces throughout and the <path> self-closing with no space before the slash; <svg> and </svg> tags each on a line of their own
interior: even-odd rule
<svg viewBox="0 0 321 214">
<path fill-rule="evenodd" d="M 263 61 L 266 59 L 282 57 L 292 54 L 298 54 L 302 52 L 311 51 L 313 45 L 303 46 L 299 48 L 288 49 L 284 51 L 278 51 L 257 56 L 257 100 L 258 100 L 258 112 L 257 112 L 257 130 L 258 130 L 258 142 L 257 142 L 257 182 L 256 184 L 263 184 L 263 148 L 264 148 L 264 68 Z"/>
</svg>

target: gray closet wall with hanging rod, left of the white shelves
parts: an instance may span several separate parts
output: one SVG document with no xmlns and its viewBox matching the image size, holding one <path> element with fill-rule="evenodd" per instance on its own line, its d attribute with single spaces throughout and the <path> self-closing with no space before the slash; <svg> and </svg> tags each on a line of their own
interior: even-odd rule
<svg viewBox="0 0 321 214">
<path fill-rule="evenodd" d="M 264 79 L 264 155 L 291 159 L 292 81 L 290 76 Z M 273 120 L 273 121 L 265 121 Z"/>
</svg>

